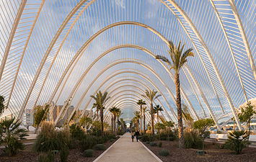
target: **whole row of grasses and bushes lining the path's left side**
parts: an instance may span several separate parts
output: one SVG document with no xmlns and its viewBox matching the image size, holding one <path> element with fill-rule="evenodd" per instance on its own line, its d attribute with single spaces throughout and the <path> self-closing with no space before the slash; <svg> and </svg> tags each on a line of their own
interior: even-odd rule
<svg viewBox="0 0 256 162">
<path fill-rule="evenodd" d="M 53 123 L 43 122 L 33 150 L 40 152 L 38 161 L 54 161 L 56 155 L 59 155 L 61 161 L 65 162 L 68 160 L 69 148 L 75 148 L 78 145 L 84 157 L 91 157 L 93 156 L 92 148 L 105 150 L 106 145 L 102 143 L 115 139 L 115 135 L 111 132 L 105 132 L 104 136 L 97 136 L 95 132 L 86 134 L 79 125 L 75 124 L 56 130 Z"/>
</svg>

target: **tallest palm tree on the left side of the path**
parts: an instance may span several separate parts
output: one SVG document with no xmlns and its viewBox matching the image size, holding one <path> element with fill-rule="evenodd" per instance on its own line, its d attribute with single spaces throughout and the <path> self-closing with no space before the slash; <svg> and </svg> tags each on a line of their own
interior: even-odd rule
<svg viewBox="0 0 256 162">
<path fill-rule="evenodd" d="M 102 136 L 104 135 L 104 119 L 103 119 L 103 109 L 105 102 L 107 102 L 108 99 L 110 99 L 110 96 L 107 96 L 107 91 L 105 91 L 104 94 L 102 94 L 101 91 L 98 91 L 96 96 L 91 96 L 94 100 L 95 103 L 97 104 L 97 107 L 100 109 L 100 120 L 101 120 L 101 132 Z"/>
</svg>

